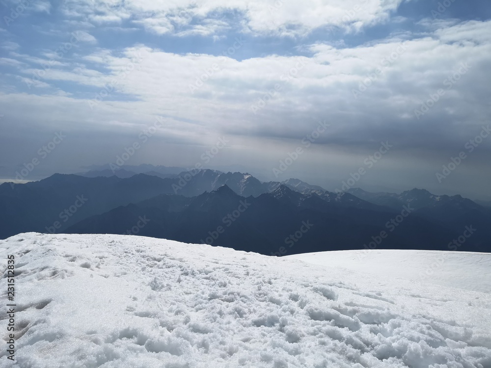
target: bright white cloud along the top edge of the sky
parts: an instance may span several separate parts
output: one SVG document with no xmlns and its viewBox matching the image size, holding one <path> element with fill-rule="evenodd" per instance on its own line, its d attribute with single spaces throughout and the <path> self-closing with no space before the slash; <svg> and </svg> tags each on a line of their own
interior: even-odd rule
<svg viewBox="0 0 491 368">
<path fill-rule="evenodd" d="M 346 31 L 358 31 L 364 26 L 385 22 L 401 2 L 402 0 L 103 0 L 94 3 L 89 0 L 67 0 L 64 12 L 69 17 L 85 18 L 98 24 L 132 18 L 135 24 L 141 24 L 151 32 L 176 32 L 181 35 L 220 33 L 236 26 L 233 24 L 236 20 L 227 21 L 225 14 L 238 12 L 244 17 L 241 25 L 244 31 L 301 36 L 319 27 L 337 26 Z M 212 14 L 223 16 L 211 25 L 205 19 L 209 19 Z M 181 30 L 182 26 L 188 26 L 190 30 Z"/>
</svg>

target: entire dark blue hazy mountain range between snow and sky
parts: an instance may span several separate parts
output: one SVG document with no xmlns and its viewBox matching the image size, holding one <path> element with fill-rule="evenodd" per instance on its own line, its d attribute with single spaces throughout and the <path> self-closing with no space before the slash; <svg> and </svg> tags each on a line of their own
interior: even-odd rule
<svg viewBox="0 0 491 368">
<path fill-rule="evenodd" d="M 116 176 L 99 167 L 83 176 L 1 184 L 0 237 L 137 234 L 278 256 L 375 247 L 490 249 L 491 208 L 461 196 L 423 189 L 332 193 L 299 179 L 263 183 L 247 173 L 181 169 L 140 165 Z"/>
</svg>

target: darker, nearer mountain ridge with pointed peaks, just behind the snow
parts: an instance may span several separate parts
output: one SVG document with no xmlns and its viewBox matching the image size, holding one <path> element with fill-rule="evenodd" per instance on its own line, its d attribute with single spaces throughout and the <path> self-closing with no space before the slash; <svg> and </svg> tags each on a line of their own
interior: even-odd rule
<svg viewBox="0 0 491 368">
<path fill-rule="evenodd" d="M 349 196 L 345 193 L 344 198 Z M 303 195 L 285 185 L 255 198 L 241 197 L 226 185 L 189 199 L 174 197 L 177 196 L 160 195 L 119 207 L 84 219 L 65 229 L 65 233 L 128 234 L 129 226 L 135 226 L 143 217 L 149 219 L 148 226 L 138 227 L 132 234 L 266 255 L 363 249 L 363 244 L 383 230 L 389 235 L 381 248 L 438 249 L 441 239 L 446 244 L 458 236 L 411 215 L 389 231 L 387 222 L 398 213 L 375 205 L 371 206 L 377 210 L 347 206 L 342 200 L 328 202 L 315 193 Z M 466 246 L 472 249 L 471 242 Z"/>
</svg>

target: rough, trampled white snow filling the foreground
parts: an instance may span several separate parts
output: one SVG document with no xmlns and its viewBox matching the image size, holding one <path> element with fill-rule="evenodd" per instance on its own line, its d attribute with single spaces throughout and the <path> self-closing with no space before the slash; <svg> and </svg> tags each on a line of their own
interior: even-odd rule
<svg viewBox="0 0 491 368">
<path fill-rule="evenodd" d="M 483 292 L 136 236 L 27 233 L 0 253 L 17 266 L 0 367 L 491 367 Z"/>
</svg>

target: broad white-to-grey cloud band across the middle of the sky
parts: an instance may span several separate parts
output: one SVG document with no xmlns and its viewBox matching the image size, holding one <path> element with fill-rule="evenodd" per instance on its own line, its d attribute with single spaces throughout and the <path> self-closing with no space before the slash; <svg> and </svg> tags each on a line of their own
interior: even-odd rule
<svg viewBox="0 0 491 368">
<path fill-rule="evenodd" d="M 144 45 L 127 48 L 123 54 L 96 49 L 78 59 L 87 65 L 52 68 L 43 79 L 55 88 L 62 86 L 57 85 L 59 81 L 97 87 L 93 95 L 77 99 L 59 96 L 60 92 L 42 98 L 11 93 L 2 95 L 0 107 L 21 109 L 29 105 L 29 111 L 22 111 L 20 119 L 34 121 L 42 117 L 40 121 L 69 124 L 72 128 L 83 122 L 80 129 L 95 132 L 110 131 L 111 121 L 124 122 L 122 131 L 137 132 L 142 124 L 151 125 L 156 115 L 169 116 L 168 125 L 156 138 L 161 146 L 163 141 L 185 142 L 192 150 L 205 145 L 212 136 L 227 134 L 236 142 L 230 145 L 228 157 L 258 158 L 261 165 L 276 164 L 291 149 L 290 143 L 296 144 L 299 137 L 312 131 L 319 119 L 327 119 L 331 128 L 320 138 L 323 144 L 312 148 L 308 156 L 311 167 L 353 162 L 355 155 L 369 154 L 380 139 L 397 141 L 391 157 L 407 157 L 408 152 L 412 156 L 425 155 L 428 166 L 436 162 L 436 167 L 442 157 L 439 150 L 459 150 L 468 139 L 464 137 L 469 129 L 487 124 L 489 83 L 485 76 L 491 67 L 490 34 L 491 22 L 464 22 L 429 29 L 420 38 L 408 39 L 404 34 L 354 48 L 341 43 L 316 43 L 305 46 L 309 58 L 269 55 L 242 61 L 208 54 L 169 53 Z M 401 44 L 404 52 L 398 53 Z M 394 53 L 397 57 L 387 62 Z M 132 60 L 138 54 L 141 60 Z M 300 60 L 305 66 L 296 70 Z M 471 65 L 469 72 L 424 120 L 418 121 L 414 109 L 442 88 L 444 80 L 463 62 Z M 94 64 L 96 67 L 91 69 Z M 355 98 L 353 90 L 377 68 L 382 73 Z M 202 85 L 192 93 L 190 85 L 199 79 Z M 251 105 L 268 96 L 275 84 L 280 90 L 254 114 Z M 108 85 L 112 85 L 108 96 L 91 108 L 89 100 Z M 121 95 L 128 96 L 128 101 Z M 53 106 L 63 114 L 54 115 Z M 177 151 L 169 148 L 165 152 L 176 155 L 180 150 L 173 149 Z M 480 150 L 483 155 L 490 152 L 489 143 L 483 143 Z M 279 152 L 279 157 L 274 152 Z M 438 158 L 432 156 L 435 152 Z M 446 158 L 446 154 L 443 156 Z M 393 168 L 396 164 L 394 160 L 387 165 Z"/>
</svg>

